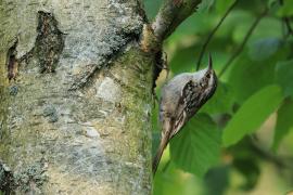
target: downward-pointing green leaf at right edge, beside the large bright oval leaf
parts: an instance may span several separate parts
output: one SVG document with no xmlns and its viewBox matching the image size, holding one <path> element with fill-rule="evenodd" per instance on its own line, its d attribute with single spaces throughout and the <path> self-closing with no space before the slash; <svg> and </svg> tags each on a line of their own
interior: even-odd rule
<svg viewBox="0 0 293 195">
<path fill-rule="evenodd" d="M 293 128 L 293 100 L 286 99 L 282 106 L 278 109 L 277 125 L 275 129 L 275 136 L 272 143 L 272 150 L 276 152 L 280 145 L 280 142 L 288 134 L 290 129 Z"/>
</svg>

